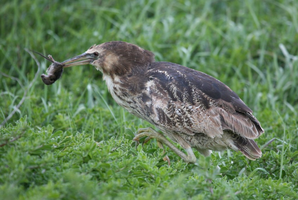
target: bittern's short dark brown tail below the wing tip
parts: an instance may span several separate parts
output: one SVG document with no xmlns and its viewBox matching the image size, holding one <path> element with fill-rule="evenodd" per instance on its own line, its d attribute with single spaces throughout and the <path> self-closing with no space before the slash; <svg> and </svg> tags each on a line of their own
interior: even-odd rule
<svg viewBox="0 0 298 200">
<path fill-rule="evenodd" d="M 246 158 L 250 160 L 256 160 L 256 158 L 261 158 L 262 156 L 261 149 L 252 139 L 239 136 L 234 139 L 234 145 L 243 155 L 246 156 Z"/>
</svg>

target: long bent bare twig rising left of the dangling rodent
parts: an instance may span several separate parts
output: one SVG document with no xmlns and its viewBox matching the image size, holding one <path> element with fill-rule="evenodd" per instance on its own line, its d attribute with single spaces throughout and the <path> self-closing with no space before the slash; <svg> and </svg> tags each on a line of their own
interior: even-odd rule
<svg viewBox="0 0 298 200">
<path fill-rule="evenodd" d="M 25 48 L 25 51 L 27 51 L 31 57 L 35 60 L 37 66 L 38 66 L 38 70 L 37 72 L 35 73 L 35 76 L 33 78 L 33 80 L 30 82 L 30 84 L 28 85 L 27 89 L 24 91 L 24 94 L 23 94 L 23 97 L 21 98 L 20 102 L 18 103 L 17 106 L 15 106 L 15 108 L 13 109 L 13 111 L 3 120 L 3 122 L 1 123 L 0 127 L 3 126 L 14 114 L 15 112 L 21 107 L 21 105 L 24 103 L 24 100 L 26 99 L 26 96 L 27 96 L 27 93 L 29 91 L 29 89 L 32 87 L 33 83 L 36 81 L 39 73 L 40 73 L 40 70 L 41 70 L 41 66 L 40 66 L 40 63 L 38 62 L 38 60 L 36 59 L 36 57 L 34 56 L 34 54 Z"/>
</svg>

